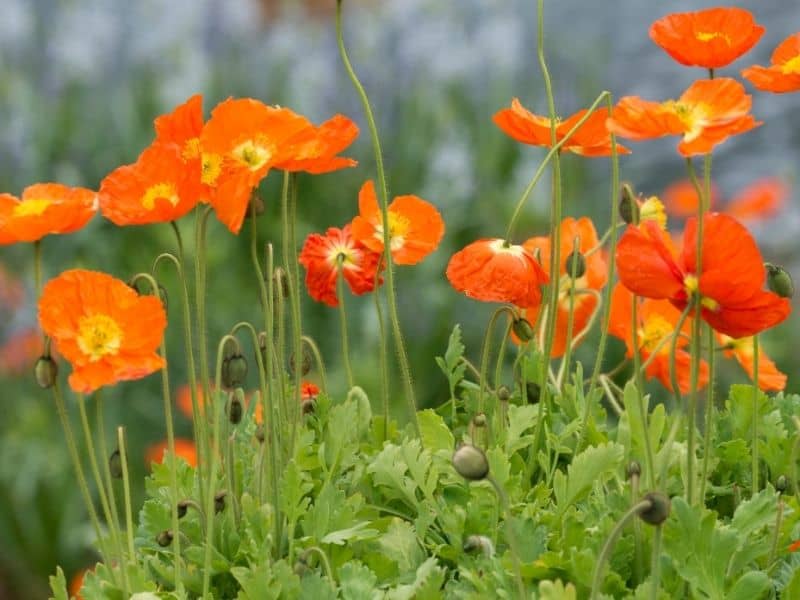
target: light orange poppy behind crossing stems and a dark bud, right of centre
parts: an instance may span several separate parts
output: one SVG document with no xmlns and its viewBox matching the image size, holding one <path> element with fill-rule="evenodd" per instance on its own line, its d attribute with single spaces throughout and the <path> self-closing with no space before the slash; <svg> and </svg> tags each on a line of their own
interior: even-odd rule
<svg viewBox="0 0 800 600">
<path fill-rule="evenodd" d="M 594 225 L 587 217 L 573 219 L 568 217 L 561 222 L 561 266 L 559 268 L 558 313 L 556 314 L 556 329 L 553 347 L 550 356 L 557 358 L 564 354 L 567 345 L 567 329 L 569 324 L 570 293 L 574 288 L 576 293 L 573 299 L 572 332 L 573 338 L 577 336 L 592 318 L 597 309 L 597 297 L 580 290 L 600 290 L 608 279 L 606 261 L 599 251 L 586 257 L 586 272 L 572 280 L 567 268 L 567 258 L 572 253 L 574 239 L 579 238 L 579 250 L 586 254 L 595 248 L 599 240 Z M 522 246 L 533 256 L 538 255 L 545 273 L 550 275 L 550 237 L 540 236 L 527 240 Z M 538 317 L 540 307 L 527 316 L 531 322 Z"/>
</svg>

